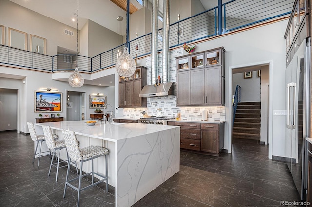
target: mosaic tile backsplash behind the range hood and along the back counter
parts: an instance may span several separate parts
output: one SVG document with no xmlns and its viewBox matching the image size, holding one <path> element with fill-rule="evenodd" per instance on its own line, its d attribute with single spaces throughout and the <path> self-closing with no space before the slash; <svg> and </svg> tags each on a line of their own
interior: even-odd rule
<svg viewBox="0 0 312 207">
<path fill-rule="evenodd" d="M 176 82 L 176 57 L 183 55 L 183 49 L 178 48 L 170 51 L 169 62 L 169 81 Z M 162 53 L 158 55 L 158 75 L 163 77 L 161 65 Z M 151 72 L 151 56 L 146 57 L 145 67 L 148 68 L 147 80 L 148 84 L 152 84 Z M 155 82 L 153 82 L 155 83 Z M 156 110 L 162 109 L 163 116 L 176 116 L 177 111 L 181 112 L 181 117 L 186 119 L 198 120 L 202 117 L 202 111 L 208 111 L 208 120 L 210 121 L 225 121 L 225 107 L 224 106 L 187 106 L 177 107 L 176 96 L 152 97 L 147 98 L 146 108 L 124 108 L 123 117 L 125 118 L 142 118 L 142 111 L 145 111 L 149 116 L 156 116 Z"/>
</svg>

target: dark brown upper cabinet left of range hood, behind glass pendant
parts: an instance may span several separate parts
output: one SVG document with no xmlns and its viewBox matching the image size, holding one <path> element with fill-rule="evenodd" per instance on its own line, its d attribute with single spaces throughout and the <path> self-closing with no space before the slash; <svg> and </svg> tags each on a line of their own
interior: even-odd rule
<svg viewBox="0 0 312 207">
<path fill-rule="evenodd" d="M 137 67 L 135 73 L 128 78 L 119 76 L 119 107 L 144 107 L 146 98 L 140 98 L 139 93 L 147 85 L 147 68 Z"/>
</svg>

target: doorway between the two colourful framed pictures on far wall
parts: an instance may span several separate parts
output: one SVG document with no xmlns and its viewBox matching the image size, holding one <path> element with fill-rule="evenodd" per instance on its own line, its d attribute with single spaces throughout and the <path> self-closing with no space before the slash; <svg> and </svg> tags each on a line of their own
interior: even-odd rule
<svg viewBox="0 0 312 207">
<path fill-rule="evenodd" d="M 67 91 L 66 121 L 84 120 L 85 92 Z"/>
</svg>

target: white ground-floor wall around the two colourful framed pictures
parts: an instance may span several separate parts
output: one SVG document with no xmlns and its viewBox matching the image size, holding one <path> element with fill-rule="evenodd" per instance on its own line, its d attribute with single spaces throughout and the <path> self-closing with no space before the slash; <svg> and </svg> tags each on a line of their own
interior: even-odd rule
<svg viewBox="0 0 312 207">
<path fill-rule="evenodd" d="M 0 78 L 0 88 L 7 89 L 20 89 L 20 131 L 28 133 L 27 121 L 35 122 L 35 118 L 38 118 L 38 113 L 34 112 L 35 99 L 34 91 L 42 91 L 41 88 L 52 88 L 63 93 L 63 107 L 60 116 L 64 117 L 66 121 L 66 91 L 84 92 L 86 99 L 89 99 L 90 94 L 96 94 L 97 92 L 107 95 L 107 104 L 115 105 L 115 90 L 114 87 L 103 87 L 93 85 L 83 85 L 81 88 L 73 88 L 69 86 L 68 82 L 52 80 L 51 73 L 32 71 L 28 69 L 15 69 L 0 66 L 1 75 L 10 76 L 12 78 Z M 14 79 L 20 78 L 20 75 L 25 76 L 22 80 Z M 22 81 L 25 80 L 25 84 Z M 85 119 L 90 119 L 90 113 L 93 113 L 93 109 L 89 109 L 88 100 L 85 105 Z M 42 112 L 41 112 L 42 113 Z M 82 112 L 81 112 L 82 113 Z M 19 132 L 19 131 L 18 131 Z"/>
</svg>

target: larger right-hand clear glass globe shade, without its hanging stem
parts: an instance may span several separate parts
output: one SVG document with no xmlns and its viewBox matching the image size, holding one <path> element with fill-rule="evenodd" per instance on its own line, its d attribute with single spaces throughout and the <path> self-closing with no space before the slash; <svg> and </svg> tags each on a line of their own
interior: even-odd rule
<svg viewBox="0 0 312 207">
<path fill-rule="evenodd" d="M 136 63 L 128 53 L 128 48 L 125 47 L 122 55 L 116 61 L 116 71 L 121 77 L 130 77 L 136 71 Z"/>
</svg>

